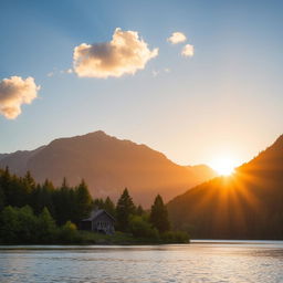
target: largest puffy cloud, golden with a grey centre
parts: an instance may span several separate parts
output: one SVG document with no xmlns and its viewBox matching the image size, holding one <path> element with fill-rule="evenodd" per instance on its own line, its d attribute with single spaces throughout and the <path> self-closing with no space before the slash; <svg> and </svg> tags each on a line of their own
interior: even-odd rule
<svg viewBox="0 0 283 283">
<path fill-rule="evenodd" d="M 158 55 L 158 49 L 149 50 L 136 31 L 116 29 L 112 41 L 86 44 L 74 49 L 74 72 L 87 77 L 119 77 L 135 74 Z"/>
</svg>

